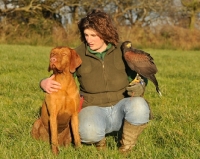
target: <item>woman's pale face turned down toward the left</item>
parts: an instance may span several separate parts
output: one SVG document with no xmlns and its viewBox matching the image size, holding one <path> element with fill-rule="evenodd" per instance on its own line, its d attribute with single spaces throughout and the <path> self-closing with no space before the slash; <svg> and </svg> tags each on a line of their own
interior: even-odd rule
<svg viewBox="0 0 200 159">
<path fill-rule="evenodd" d="M 103 39 L 101 39 L 93 29 L 84 30 L 85 39 L 91 50 L 96 52 L 103 52 L 107 45 Z"/>
</svg>

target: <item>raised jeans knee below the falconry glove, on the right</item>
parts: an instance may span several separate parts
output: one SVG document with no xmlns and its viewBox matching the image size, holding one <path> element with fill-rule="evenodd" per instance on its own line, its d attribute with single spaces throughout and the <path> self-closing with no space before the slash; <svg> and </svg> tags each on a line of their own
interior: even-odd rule
<svg viewBox="0 0 200 159">
<path fill-rule="evenodd" d="M 141 125 L 149 121 L 150 109 L 142 97 L 127 98 L 124 112 L 125 119 L 133 125 Z"/>
</svg>

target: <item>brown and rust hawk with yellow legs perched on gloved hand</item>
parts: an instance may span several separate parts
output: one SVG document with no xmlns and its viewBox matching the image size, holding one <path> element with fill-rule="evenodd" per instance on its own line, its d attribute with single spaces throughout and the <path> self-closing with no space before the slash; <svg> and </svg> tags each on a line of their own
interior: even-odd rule
<svg viewBox="0 0 200 159">
<path fill-rule="evenodd" d="M 123 42 L 121 49 L 127 65 L 131 70 L 137 72 L 136 79 L 139 75 L 146 77 L 153 82 L 156 87 L 156 91 L 160 96 L 162 96 L 158 86 L 158 81 L 155 77 L 155 74 L 158 72 L 158 70 L 153 61 L 153 57 L 151 57 L 149 53 L 133 48 L 130 41 Z"/>
</svg>

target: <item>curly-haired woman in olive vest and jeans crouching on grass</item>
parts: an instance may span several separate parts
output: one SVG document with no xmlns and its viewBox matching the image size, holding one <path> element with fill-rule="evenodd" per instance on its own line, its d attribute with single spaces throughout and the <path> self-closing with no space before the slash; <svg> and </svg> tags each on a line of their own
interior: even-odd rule
<svg viewBox="0 0 200 159">
<path fill-rule="evenodd" d="M 135 72 L 122 59 L 119 36 L 108 14 L 93 10 L 80 20 L 78 28 L 83 42 L 76 48 L 82 59 L 76 71 L 80 94 L 84 97 L 79 113 L 81 140 L 103 149 L 105 135 L 119 131 L 123 125 L 119 150 L 127 152 L 149 121 L 149 106 L 140 97 L 144 88 L 138 83 L 129 89 L 134 97 L 127 97 L 128 76 Z M 41 81 L 41 88 L 47 93 L 60 88 L 52 78 Z"/>
</svg>

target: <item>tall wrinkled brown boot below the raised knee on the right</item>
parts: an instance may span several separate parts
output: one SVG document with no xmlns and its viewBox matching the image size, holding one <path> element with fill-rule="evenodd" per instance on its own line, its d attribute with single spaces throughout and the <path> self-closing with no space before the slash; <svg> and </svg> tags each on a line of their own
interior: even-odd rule
<svg viewBox="0 0 200 159">
<path fill-rule="evenodd" d="M 121 153 L 129 152 L 136 144 L 137 138 L 147 124 L 132 125 L 128 121 L 124 120 L 122 140 L 120 141 L 121 147 L 119 151 Z"/>
</svg>

